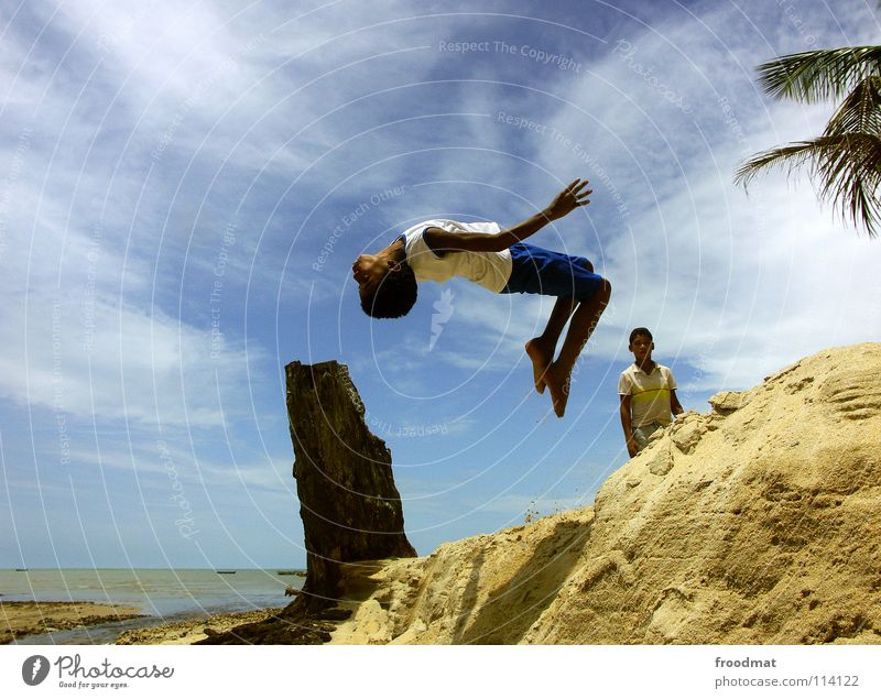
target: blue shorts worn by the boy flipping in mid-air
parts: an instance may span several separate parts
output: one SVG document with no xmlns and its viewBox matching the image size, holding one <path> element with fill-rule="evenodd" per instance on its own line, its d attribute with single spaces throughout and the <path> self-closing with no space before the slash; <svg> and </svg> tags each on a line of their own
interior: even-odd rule
<svg viewBox="0 0 881 699">
<path fill-rule="evenodd" d="M 602 277 L 594 273 L 587 258 L 544 250 L 524 242 L 511 251 L 511 276 L 501 294 L 544 294 L 587 301 L 599 290 Z"/>
</svg>

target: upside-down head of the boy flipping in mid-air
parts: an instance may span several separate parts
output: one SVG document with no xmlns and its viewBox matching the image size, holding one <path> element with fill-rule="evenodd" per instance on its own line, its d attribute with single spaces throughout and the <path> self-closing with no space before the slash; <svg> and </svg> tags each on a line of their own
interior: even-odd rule
<svg viewBox="0 0 881 699">
<path fill-rule="evenodd" d="M 372 318 L 400 318 L 416 303 L 416 276 L 405 260 L 382 252 L 363 254 L 351 271 L 358 282 L 361 308 Z"/>
</svg>

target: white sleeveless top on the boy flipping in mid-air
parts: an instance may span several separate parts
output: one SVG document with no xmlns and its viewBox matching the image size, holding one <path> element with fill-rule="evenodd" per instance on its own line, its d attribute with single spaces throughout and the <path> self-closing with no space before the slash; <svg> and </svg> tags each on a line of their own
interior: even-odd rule
<svg viewBox="0 0 881 699">
<path fill-rule="evenodd" d="M 426 228 L 442 228 L 452 233 L 498 233 L 498 223 L 460 223 L 447 219 L 423 221 L 404 231 L 404 253 L 417 282 L 446 282 L 464 276 L 493 293 L 499 293 L 511 276 L 511 251 L 501 252 L 446 252 L 438 255 L 425 242 Z"/>
</svg>

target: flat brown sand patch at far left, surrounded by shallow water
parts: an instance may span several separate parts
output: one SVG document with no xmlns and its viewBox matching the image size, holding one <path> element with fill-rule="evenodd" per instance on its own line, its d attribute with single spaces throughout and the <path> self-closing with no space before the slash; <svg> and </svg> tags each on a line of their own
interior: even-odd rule
<svg viewBox="0 0 881 699">
<path fill-rule="evenodd" d="M 126 604 L 0 600 L 0 645 L 25 636 L 146 616 L 139 608 Z"/>
</svg>

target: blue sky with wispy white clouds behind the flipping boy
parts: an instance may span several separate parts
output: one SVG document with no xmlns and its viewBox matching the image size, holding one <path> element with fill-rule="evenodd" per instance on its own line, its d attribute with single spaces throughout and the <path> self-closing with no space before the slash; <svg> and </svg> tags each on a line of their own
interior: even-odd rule
<svg viewBox="0 0 881 699">
<path fill-rule="evenodd" d="M 634 326 L 698 411 L 877 339 L 879 243 L 804 176 L 731 179 L 833 109 L 755 65 L 878 32 L 860 0 L 7 3 L 0 567 L 303 565 L 293 360 L 349 365 L 427 554 L 592 501 Z M 454 282 L 361 313 L 359 253 L 578 176 L 590 207 L 533 242 L 613 298 L 564 419 L 522 351 L 550 301 Z"/>
</svg>

